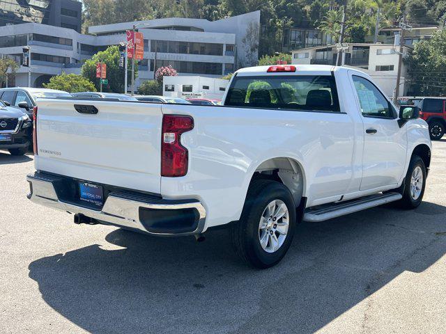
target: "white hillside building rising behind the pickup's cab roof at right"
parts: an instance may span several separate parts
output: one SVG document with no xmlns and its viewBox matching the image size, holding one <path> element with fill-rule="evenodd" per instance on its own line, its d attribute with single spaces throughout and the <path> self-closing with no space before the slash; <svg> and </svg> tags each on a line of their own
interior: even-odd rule
<svg viewBox="0 0 446 334">
<path fill-rule="evenodd" d="M 410 50 L 410 47 L 404 47 L 403 54 L 407 54 Z M 397 85 L 398 51 L 399 47 L 396 50 L 393 44 L 348 43 L 344 65 L 360 67 L 374 79 L 387 96 L 392 97 Z M 334 45 L 330 45 L 293 51 L 291 62 L 293 64 L 335 65 L 336 59 L 337 49 Z M 406 73 L 407 67 L 403 63 L 400 95 L 404 95 L 408 90 L 409 85 L 405 81 Z"/>
</svg>

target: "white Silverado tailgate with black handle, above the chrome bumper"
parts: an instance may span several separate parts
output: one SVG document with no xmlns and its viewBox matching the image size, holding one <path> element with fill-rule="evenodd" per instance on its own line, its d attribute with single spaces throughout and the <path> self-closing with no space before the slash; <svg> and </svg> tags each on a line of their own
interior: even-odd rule
<svg viewBox="0 0 446 334">
<path fill-rule="evenodd" d="M 98 113 L 80 113 L 75 104 Z M 160 193 L 160 104 L 40 99 L 37 105 L 37 170 Z"/>
</svg>

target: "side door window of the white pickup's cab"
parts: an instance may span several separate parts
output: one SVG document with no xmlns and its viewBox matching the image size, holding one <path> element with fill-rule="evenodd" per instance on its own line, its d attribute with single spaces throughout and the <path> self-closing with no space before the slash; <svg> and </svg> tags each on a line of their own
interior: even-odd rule
<svg viewBox="0 0 446 334">
<path fill-rule="evenodd" d="M 357 97 L 360 100 L 360 107 L 363 116 L 395 118 L 392 104 L 369 80 L 362 77 L 353 76 L 353 84 Z"/>
</svg>

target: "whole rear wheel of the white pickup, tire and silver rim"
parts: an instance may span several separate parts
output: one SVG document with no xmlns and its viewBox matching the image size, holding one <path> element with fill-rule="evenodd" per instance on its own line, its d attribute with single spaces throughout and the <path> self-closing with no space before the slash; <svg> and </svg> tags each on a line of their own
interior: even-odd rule
<svg viewBox="0 0 446 334">
<path fill-rule="evenodd" d="M 236 252 L 252 267 L 274 266 L 291 246 L 295 216 L 286 186 L 271 180 L 252 182 L 240 221 L 231 230 Z"/>
</svg>

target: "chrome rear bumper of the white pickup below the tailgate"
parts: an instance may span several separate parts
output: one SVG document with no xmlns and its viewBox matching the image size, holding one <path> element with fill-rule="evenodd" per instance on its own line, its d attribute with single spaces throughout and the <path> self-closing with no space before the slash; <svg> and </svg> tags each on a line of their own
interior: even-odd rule
<svg viewBox="0 0 446 334">
<path fill-rule="evenodd" d="M 61 196 L 58 195 L 58 193 L 61 193 L 61 190 L 57 185 L 58 182 L 61 182 L 61 177 L 35 173 L 34 175 L 28 175 L 26 180 L 30 184 L 30 193 L 27 197 L 32 202 L 72 214 L 82 214 L 100 223 L 165 236 L 200 234 L 204 229 L 206 210 L 198 200 L 164 200 L 133 191 L 114 191 L 105 198 L 101 209 L 93 209 L 79 205 L 79 203 L 62 200 Z M 158 228 L 151 230 L 151 228 L 147 227 L 151 224 L 150 221 L 147 221 L 147 219 L 141 221 L 141 217 L 144 216 L 141 216 L 141 210 L 157 212 L 154 216 L 158 217 Z M 162 228 L 159 228 L 159 226 L 162 227 L 163 219 L 160 219 L 160 216 L 162 216 L 163 212 L 159 210 L 164 210 L 166 214 L 169 213 L 170 218 L 172 212 L 174 212 L 172 210 L 177 210 L 178 221 L 182 219 L 183 212 L 191 212 L 192 210 L 194 216 L 196 216 L 196 223 L 192 225 L 190 230 L 183 227 L 179 228 L 178 232 L 175 228 L 169 228 L 169 232 L 162 232 Z"/>
</svg>

